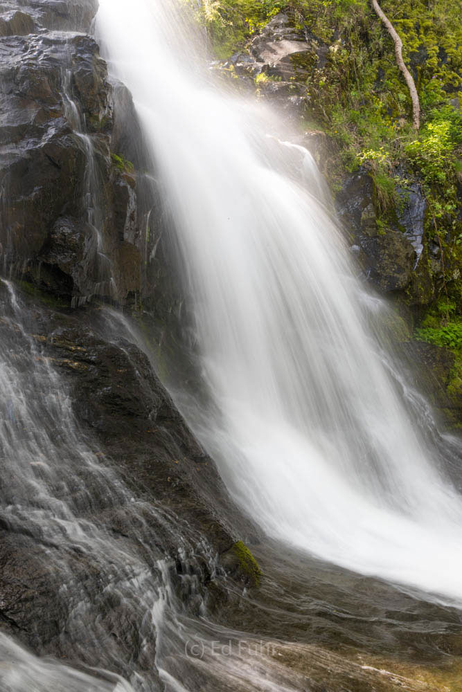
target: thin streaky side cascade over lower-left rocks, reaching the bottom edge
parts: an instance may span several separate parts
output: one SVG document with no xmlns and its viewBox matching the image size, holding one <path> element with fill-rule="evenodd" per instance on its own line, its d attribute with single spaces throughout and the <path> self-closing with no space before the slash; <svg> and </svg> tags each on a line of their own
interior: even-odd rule
<svg viewBox="0 0 462 692">
<path fill-rule="evenodd" d="M 39 658 L 0 632 L 0 691 L 295 692 L 263 646 L 259 656 L 250 645 L 232 656 L 213 650 L 220 637 L 240 633 L 188 613 L 189 600 L 196 608 L 202 600 L 200 563 L 215 572 L 210 547 L 161 504 L 134 497 L 87 444 L 42 349 L 46 338 L 33 331 L 35 311 L 1 279 L 0 308 L 0 526 L 10 554 L 18 545 L 26 561 L 21 579 L 39 565 L 53 585 L 45 588 L 54 596 L 51 632 L 37 646 L 48 653 L 52 641 L 66 659 Z M 175 586 L 175 558 L 163 545 L 175 546 L 181 564 Z M 31 608 L 30 636 L 38 610 Z M 188 648 L 197 645 L 199 659 Z"/>
</svg>

